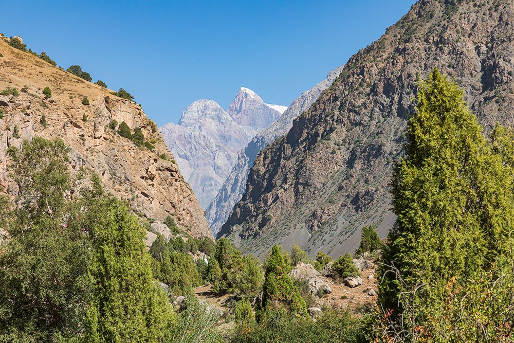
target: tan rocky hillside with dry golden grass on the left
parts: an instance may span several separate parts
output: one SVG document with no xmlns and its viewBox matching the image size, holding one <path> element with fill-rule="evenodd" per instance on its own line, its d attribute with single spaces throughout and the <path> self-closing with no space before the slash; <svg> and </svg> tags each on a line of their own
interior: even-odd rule
<svg viewBox="0 0 514 343">
<path fill-rule="evenodd" d="M 0 91 L 17 88 L 19 96 L 0 96 L 0 191 L 16 191 L 9 180 L 6 148 L 34 136 L 62 138 L 72 149 L 71 167 L 98 173 L 109 192 L 126 200 L 137 213 L 164 220 L 175 217 L 194 236 L 212 237 L 195 195 L 183 180 L 155 123 L 141 106 L 109 94 L 109 90 L 53 67 L 0 40 Z M 50 87 L 49 99 L 42 94 Z M 26 87 L 26 88 L 24 88 Z M 22 88 L 23 91 L 22 91 Z M 83 105 L 87 96 L 89 105 Z M 112 120 L 140 128 L 155 149 L 109 129 Z M 159 158 L 165 154 L 169 160 Z"/>
</svg>

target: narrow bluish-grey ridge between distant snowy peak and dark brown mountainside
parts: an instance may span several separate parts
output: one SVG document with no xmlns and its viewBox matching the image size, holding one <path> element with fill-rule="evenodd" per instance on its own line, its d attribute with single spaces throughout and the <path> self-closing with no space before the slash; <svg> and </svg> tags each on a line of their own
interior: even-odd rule
<svg viewBox="0 0 514 343">
<path fill-rule="evenodd" d="M 255 156 L 277 137 L 285 135 L 289 131 L 293 119 L 306 111 L 318 99 L 321 92 L 328 88 L 341 73 L 342 68 L 341 66 L 332 70 L 325 80 L 303 92 L 298 99 L 287 107 L 287 110 L 276 122 L 253 137 L 246 148 L 237 154 L 234 167 L 206 211 L 207 221 L 214 234 L 227 221 L 235 203 L 241 200 L 245 191 L 248 172 L 253 165 Z"/>
</svg>

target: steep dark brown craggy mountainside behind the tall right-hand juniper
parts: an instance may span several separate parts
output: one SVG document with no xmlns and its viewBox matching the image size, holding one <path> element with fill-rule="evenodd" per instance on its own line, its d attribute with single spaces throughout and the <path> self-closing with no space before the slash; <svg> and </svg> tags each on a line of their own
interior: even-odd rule
<svg viewBox="0 0 514 343">
<path fill-rule="evenodd" d="M 255 159 L 221 234 L 262 255 L 292 240 L 332 256 L 363 225 L 394 223 L 388 184 L 402 155 L 416 80 L 437 67 L 461 84 L 486 130 L 514 123 L 512 0 L 421 0 L 360 50 L 285 137 Z"/>
</svg>

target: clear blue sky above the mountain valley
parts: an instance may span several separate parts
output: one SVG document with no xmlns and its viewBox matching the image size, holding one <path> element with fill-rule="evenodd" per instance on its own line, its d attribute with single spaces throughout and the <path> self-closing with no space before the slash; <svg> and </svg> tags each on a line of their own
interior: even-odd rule
<svg viewBox="0 0 514 343">
<path fill-rule="evenodd" d="M 414 0 L 9 1 L 0 32 L 125 88 L 158 125 L 241 86 L 288 105 L 407 13 Z"/>
</svg>

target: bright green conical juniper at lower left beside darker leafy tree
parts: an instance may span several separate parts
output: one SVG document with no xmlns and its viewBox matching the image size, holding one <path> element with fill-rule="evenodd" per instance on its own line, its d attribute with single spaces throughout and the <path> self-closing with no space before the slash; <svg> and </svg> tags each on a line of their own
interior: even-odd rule
<svg viewBox="0 0 514 343">
<path fill-rule="evenodd" d="M 164 336 L 171 310 L 154 284 L 144 231 L 125 204 L 97 203 L 101 212 L 90 228 L 94 242 L 93 300 L 87 311 L 90 342 L 154 342 Z"/>
</svg>

